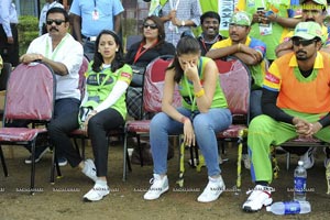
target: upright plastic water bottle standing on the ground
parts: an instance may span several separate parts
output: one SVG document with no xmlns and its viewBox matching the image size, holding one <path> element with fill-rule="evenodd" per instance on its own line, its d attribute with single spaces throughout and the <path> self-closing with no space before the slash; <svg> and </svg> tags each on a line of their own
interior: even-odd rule
<svg viewBox="0 0 330 220">
<path fill-rule="evenodd" d="M 306 200 L 307 172 L 302 165 L 304 162 L 299 161 L 298 166 L 295 169 L 294 200 L 296 201 Z"/>
</svg>

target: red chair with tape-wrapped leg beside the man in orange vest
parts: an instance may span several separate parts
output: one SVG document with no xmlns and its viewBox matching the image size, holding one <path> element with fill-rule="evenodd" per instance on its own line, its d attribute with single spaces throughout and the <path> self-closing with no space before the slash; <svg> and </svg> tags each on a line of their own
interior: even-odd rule
<svg viewBox="0 0 330 220">
<path fill-rule="evenodd" d="M 250 120 L 251 76 L 249 68 L 238 58 L 228 61 L 216 59 L 219 69 L 220 84 L 233 116 L 233 123 L 217 138 L 220 142 L 234 142 L 238 145 L 238 178 L 237 187 L 241 187 L 241 161 L 243 141 L 248 138 Z"/>
</svg>

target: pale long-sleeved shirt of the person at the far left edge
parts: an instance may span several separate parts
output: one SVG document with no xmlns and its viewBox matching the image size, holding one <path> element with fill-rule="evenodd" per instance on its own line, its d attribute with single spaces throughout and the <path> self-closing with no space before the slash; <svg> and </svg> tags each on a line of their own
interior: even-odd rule
<svg viewBox="0 0 330 220">
<path fill-rule="evenodd" d="M 10 23 L 19 23 L 15 4 L 11 0 L 1 0 L 0 3 L 0 23 L 8 37 L 12 36 Z"/>
</svg>

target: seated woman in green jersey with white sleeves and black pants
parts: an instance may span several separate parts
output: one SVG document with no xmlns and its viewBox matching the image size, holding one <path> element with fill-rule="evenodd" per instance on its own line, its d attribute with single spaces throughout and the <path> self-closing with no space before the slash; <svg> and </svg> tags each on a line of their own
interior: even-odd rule
<svg viewBox="0 0 330 220">
<path fill-rule="evenodd" d="M 50 124 L 51 140 L 72 167 L 95 182 L 84 195 L 85 201 L 98 201 L 110 193 L 108 174 L 107 131 L 124 124 L 127 117 L 125 92 L 132 78 L 132 69 L 124 64 L 123 48 L 119 36 L 103 30 L 96 40 L 94 61 L 86 73 L 86 94 L 79 111 L 74 111 Z M 85 129 L 91 141 L 95 162 L 84 161 L 74 148 L 69 133 Z"/>
</svg>

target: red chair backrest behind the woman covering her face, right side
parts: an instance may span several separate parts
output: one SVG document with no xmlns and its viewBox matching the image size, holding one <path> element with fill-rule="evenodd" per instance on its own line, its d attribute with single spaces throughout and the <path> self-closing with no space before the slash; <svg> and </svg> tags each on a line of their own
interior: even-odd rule
<svg viewBox="0 0 330 220">
<path fill-rule="evenodd" d="M 249 116 L 251 78 L 249 68 L 238 58 L 216 59 L 222 90 L 233 116 Z"/>
</svg>

